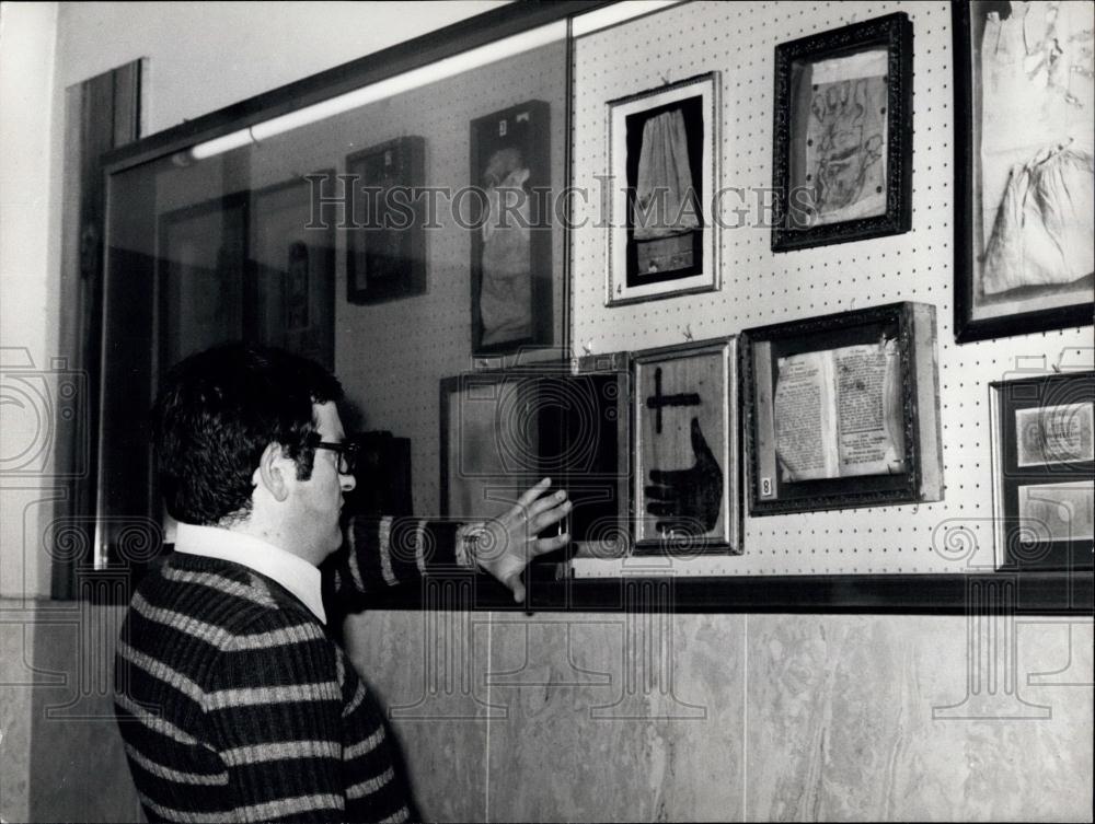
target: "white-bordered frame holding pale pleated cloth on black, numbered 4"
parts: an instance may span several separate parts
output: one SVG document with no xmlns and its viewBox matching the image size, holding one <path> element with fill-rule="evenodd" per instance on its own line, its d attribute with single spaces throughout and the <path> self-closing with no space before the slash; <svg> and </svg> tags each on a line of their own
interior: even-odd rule
<svg viewBox="0 0 1095 824">
<path fill-rule="evenodd" d="M 708 72 L 609 102 L 608 305 L 718 289 L 721 88 Z"/>
</svg>

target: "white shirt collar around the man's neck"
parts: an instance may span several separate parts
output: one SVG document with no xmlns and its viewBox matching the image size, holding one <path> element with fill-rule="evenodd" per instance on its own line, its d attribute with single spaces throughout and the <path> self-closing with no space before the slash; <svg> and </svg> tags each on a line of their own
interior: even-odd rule
<svg viewBox="0 0 1095 824">
<path fill-rule="evenodd" d="M 253 535 L 223 530 L 220 526 L 178 524 L 175 552 L 241 564 L 272 578 L 296 595 L 321 624 L 327 623 L 323 612 L 320 570 L 303 558 L 287 553 Z"/>
</svg>

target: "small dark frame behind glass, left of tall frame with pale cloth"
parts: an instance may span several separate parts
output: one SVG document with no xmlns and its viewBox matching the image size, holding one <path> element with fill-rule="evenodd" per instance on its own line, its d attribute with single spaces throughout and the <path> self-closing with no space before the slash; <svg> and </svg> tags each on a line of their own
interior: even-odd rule
<svg viewBox="0 0 1095 824">
<path fill-rule="evenodd" d="M 384 301 L 426 291 L 426 233 L 420 188 L 426 140 L 401 137 L 346 158 L 355 175 L 354 225 L 346 251 L 346 299 Z"/>
</svg>

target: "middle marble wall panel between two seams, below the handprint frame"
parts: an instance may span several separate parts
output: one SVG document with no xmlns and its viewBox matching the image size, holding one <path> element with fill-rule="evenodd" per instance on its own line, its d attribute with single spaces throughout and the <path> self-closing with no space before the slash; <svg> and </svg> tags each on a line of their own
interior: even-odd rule
<svg viewBox="0 0 1095 824">
<path fill-rule="evenodd" d="M 489 817 L 742 814 L 739 616 L 496 614 Z"/>
</svg>

